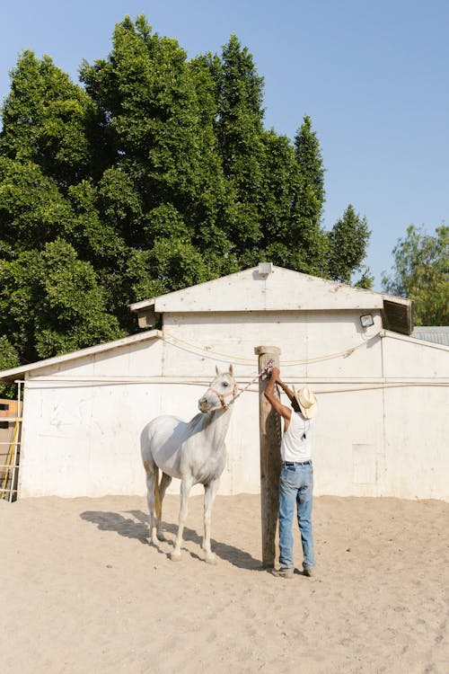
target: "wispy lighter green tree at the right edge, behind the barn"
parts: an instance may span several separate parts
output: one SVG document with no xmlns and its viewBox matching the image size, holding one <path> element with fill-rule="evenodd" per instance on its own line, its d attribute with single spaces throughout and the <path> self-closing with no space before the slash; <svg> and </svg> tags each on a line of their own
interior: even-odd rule
<svg viewBox="0 0 449 674">
<path fill-rule="evenodd" d="M 449 325 L 449 227 L 427 235 L 410 225 L 393 248 L 394 267 L 383 273 L 383 289 L 415 303 L 415 324 Z"/>
</svg>

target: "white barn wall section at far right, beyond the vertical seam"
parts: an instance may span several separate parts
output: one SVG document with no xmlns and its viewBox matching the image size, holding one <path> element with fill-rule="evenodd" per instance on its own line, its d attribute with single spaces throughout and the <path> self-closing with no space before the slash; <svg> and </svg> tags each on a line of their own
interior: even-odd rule
<svg viewBox="0 0 449 674">
<path fill-rule="evenodd" d="M 449 501 L 449 349 L 391 336 L 383 361 L 386 491 Z"/>
</svg>

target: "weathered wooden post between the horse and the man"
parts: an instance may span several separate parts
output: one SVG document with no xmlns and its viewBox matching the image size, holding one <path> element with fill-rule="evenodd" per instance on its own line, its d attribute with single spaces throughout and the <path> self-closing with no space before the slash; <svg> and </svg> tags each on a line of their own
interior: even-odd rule
<svg viewBox="0 0 449 674">
<path fill-rule="evenodd" d="M 279 367 L 280 349 L 277 346 L 258 346 L 254 353 L 259 356 L 259 372 L 273 361 Z M 262 520 L 262 565 L 275 565 L 277 515 L 279 509 L 279 474 L 281 470 L 280 443 L 281 421 L 264 395 L 269 377 L 259 379 L 260 415 L 260 506 Z M 278 394 L 277 394 L 278 395 Z"/>
</svg>

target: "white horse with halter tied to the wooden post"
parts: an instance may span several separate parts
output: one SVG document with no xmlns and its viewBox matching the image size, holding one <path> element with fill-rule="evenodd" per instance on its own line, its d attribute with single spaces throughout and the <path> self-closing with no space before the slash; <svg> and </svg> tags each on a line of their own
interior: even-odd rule
<svg viewBox="0 0 449 674">
<path fill-rule="evenodd" d="M 146 498 L 150 512 L 150 541 L 165 540 L 162 532 L 162 503 L 172 477 L 180 479 L 180 518 L 172 560 L 180 559 L 182 532 L 187 519 L 190 489 L 204 484 L 204 537 L 206 562 L 216 563 L 210 549 L 210 520 L 220 476 L 225 468 L 225 435 L 237 395 L 233 366 L 219 372 L 199 399 L 199 414 L 190 421 L 160 416 L 146 424 L 141 435 L 142 460 L 146 473 Z M 231 405 L 231 406 L 230 406 Z M 163 471 L 159 483 L 159 468 Z"/>
</svg>

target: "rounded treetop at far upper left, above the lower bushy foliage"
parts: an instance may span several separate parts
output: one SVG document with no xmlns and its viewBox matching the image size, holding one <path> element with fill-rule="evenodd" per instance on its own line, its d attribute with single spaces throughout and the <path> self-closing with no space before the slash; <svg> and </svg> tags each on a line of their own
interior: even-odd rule
<svg viewBox="0 0 449 674">
<path fill-rule="evenodd" d="M 11 92 L 4 102 L 0 153 L 39 164 L 61 186 L 78 182 L 94 170 L 93 155 L 98 165 L 92 135 L 95 114 L 81 86 L 51 58 L 36 58 L 27 49 L 13 69 Z"/>
</svg>

